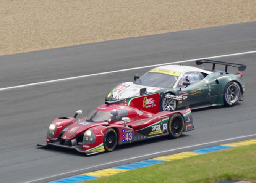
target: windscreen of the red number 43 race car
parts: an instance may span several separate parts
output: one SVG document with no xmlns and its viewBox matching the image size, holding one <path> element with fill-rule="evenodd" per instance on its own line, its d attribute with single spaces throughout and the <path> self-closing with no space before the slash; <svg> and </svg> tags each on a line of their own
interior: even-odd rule
<svg viewBox="0 0 256 183">
<path fill-rule="evenodd" d="M 114 111 L 93 110 L 88 116 L 87 122 L 109 122 L 115 118 Z"/>
</svg>

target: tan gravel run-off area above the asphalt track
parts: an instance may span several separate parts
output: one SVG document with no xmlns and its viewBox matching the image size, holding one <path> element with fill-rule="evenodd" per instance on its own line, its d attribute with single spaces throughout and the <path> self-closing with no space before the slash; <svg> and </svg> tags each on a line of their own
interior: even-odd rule
<svg viewBox="0 0 256 183">
<path fill-rule="evenodd" d="M 0 55 L 256 21 L 256 0 L 1 0 Z"/>
</svg>

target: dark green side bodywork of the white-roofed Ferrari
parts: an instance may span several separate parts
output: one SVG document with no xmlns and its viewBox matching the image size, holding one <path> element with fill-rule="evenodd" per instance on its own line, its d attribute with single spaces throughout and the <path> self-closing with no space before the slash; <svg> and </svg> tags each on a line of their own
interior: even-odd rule
<svg viewBox="0 0 256 183">
<path fill-rule="evenodd" d="M 229 82 L 237 82 L 240 86 L 241 96 L 245 88 L 243 79 L 238 74 L 226 74 L 220 72 L 213 72 L 208 74 L 203 80 L 197 83 L 180 88 L 165 88 L 160 92 L 171 93 L 173 95 L 188 94 L 190 99 L 190 108 L 201 108 L 206 106 L 220 106 L 224 105 L 223 93 L 225 86 Z M 182 104 L 178 104 L 177 108 L 181 108 Z"/>
</svg>

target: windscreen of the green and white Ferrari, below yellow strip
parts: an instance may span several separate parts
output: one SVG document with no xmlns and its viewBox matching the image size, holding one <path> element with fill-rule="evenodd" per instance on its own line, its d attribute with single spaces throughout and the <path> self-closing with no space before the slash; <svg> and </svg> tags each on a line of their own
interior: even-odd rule
<svg viewBox="0 0 256 183">
<path fill-rule="evenodd" d="M 172 88 L 177 80 L 177 76 L 156 72 L 147 72 L 134 83 L 149 87 Z"/>
</svg>

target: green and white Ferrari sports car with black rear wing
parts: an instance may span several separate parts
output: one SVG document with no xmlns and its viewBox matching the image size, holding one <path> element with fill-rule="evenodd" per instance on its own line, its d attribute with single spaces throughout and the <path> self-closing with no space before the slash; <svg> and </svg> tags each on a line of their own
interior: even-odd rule
<svg viewBox="0 0 256 183">
<path fill-rule="evenodd" d="M 145 93 L 164 92 L 168 95 L 189 95 L 190 108 L 209 106 L 233 106 L 243 100 L 245 85 L 241 73 L 228 72 L 228 66 L 237 67 L 244 71 L 246 65 L 213 60 L 198 60 L 197 65 L 211 63 L 212 69 L 192 66 L 165 65 L 156 67 L 139 77 L 134 75 L 134 82 L 118 84 L 106 96 L 106 101 L 120 100 Z M 225 70 L 215 70 L 215 64 L 225 66 Z M 150 99 L 145 100 L 151 104 Z M 148 105 L 150 107 L 150 105 Z M 181 102 L 164 98 L 163 111 L 173 111 L 182 107 Z"/>
</svg>

